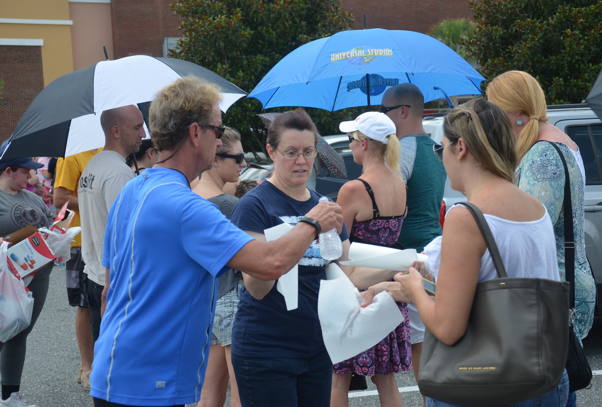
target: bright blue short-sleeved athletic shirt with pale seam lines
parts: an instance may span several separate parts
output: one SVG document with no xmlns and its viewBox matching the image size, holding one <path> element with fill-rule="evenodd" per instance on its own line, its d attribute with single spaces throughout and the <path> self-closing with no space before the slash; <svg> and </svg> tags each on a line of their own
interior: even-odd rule
<svg viewBox="0 0 602 407">
<path fill-rule="evenodd" d="M 250 240 L 179 171 L 149 168 L 128 182 L 107 219 L 110 289 L 90 394 L 136 406 L 198 402 L 217 278 Z"/>
</svg>

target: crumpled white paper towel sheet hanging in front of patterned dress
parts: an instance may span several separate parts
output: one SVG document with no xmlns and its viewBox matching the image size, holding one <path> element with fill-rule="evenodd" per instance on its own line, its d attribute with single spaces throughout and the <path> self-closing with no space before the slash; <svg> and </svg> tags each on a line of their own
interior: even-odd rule
<svg viewBox="0 0 602 407">
<path fill-rule="evenodd" d="M 403 322 L 401 311 L 386 292 L 374 296 L 367 307 L 359 307 L 362 302 L 349 278 L 320 281 L 318 317 L 333 364 L 376 345 Z"/>
</svg>

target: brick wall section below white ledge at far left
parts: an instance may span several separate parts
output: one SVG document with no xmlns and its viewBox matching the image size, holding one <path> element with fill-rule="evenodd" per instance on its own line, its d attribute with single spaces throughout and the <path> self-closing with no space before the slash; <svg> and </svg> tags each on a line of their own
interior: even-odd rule
<svg viewBox="0 0 602 407">
<path fill-rule="evenodd" d="M 29 104 L 44 88 L 39 46 L 0 46 L 0 142 L 9 138 Z"/>
</svg>

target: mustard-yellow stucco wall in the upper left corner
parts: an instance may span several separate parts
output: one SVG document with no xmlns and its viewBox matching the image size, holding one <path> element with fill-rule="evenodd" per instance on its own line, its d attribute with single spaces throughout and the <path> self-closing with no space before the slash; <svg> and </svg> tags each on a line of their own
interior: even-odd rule
<svg viewBox="0 0 602 407">
<path fill-rule="evenodd" d="M 70 20 L 67 0 L 0 0 L 5 19 Z M 44 86 L 73 70 L 71 26 L 0 23 L 0 38 L 42 38 Z"/>
</svg>

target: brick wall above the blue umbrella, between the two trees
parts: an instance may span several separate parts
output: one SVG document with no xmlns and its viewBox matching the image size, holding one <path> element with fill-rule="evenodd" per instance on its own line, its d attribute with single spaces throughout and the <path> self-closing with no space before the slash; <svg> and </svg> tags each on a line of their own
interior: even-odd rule
<svg viewBox="0 0 602 407">
<path fill-rule="evenodd" d="M 472 17 L 468 0 L 341 0 L 341 8 L 355 17 L 353 29 L 404 29 L 427 34 L 446 18 Z"/>
</svg>

